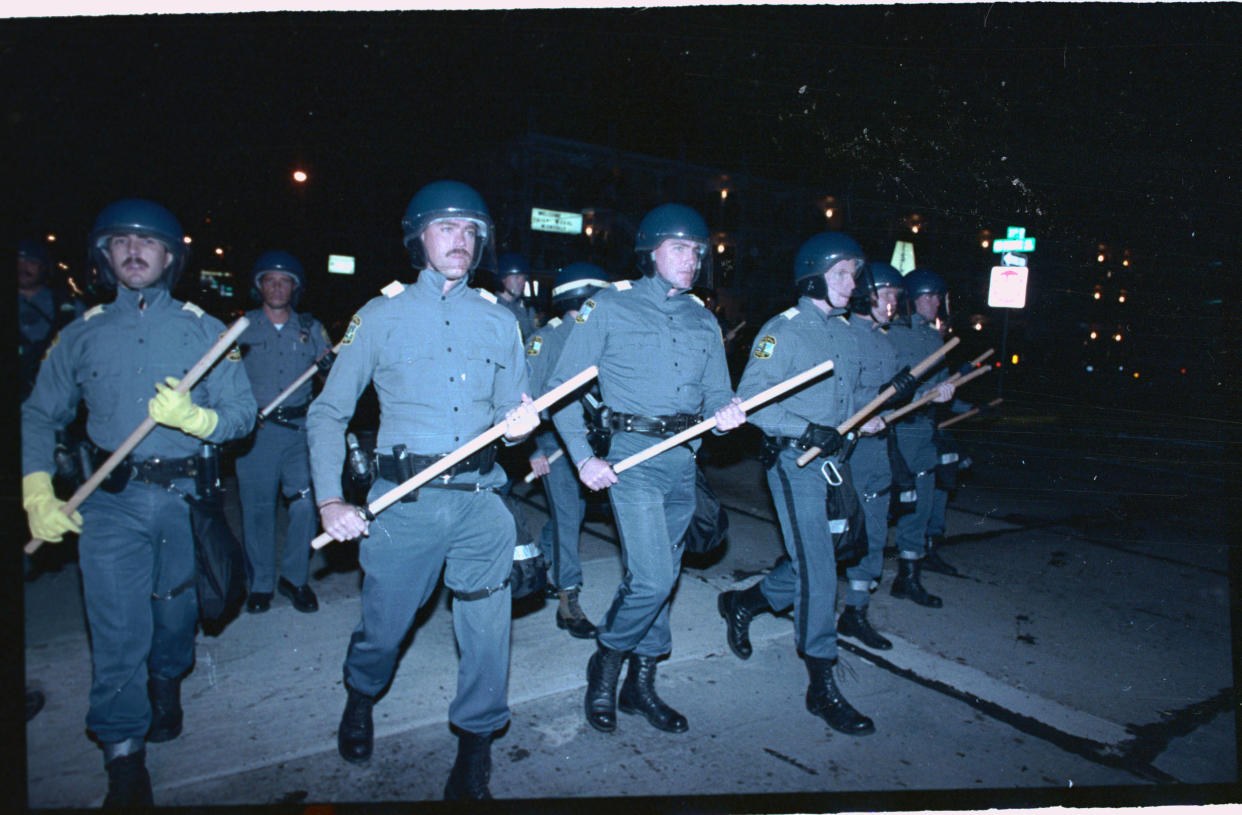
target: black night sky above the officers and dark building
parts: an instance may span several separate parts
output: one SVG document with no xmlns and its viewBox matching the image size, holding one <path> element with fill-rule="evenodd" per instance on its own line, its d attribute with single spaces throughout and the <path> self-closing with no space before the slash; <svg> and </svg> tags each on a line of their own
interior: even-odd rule
<svg viewBox="0 0 1242 815">
<path fill-rule="evenodd" d="M 1236 277 L 1240 42 L 1236 4 L 6 20 L 4 231 L 79 266 L 142 195 L 202 266 L 307 235 L 401 263 L 419 186 L 539 132 Z"/>
</svg>

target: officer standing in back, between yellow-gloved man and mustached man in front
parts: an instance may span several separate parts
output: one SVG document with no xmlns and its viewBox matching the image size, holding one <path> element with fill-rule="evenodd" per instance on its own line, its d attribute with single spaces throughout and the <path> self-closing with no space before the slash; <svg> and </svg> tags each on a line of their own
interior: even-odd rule
<svg viewBox="0 0 1242 815">
<path fill-rule="evenodd" d="M 307 276 L 293 255 L 265 252 L 251 270 L 251 296 L 261 308 L 247 312 L 250 327 L 238 338 L 242 362 L 255 399 L 268 405 L 307 368 L 332 349 L 328 333 L 314 317 L 294 307 L 306 291 Z M 330 360 L 329 363 L 330 364 Z M 267 611 L 278 588 L 293 608 L 309 614 L 319 601 L 308 583 L 310 538 L 315 533 L 314 496 L 307 457 L 306 415 L 310 380 L 289 394 L 266 420 L 258 422 L 250 450 L 237 456 L 237 488 L 246 533 L 250 586 L 246 611 Z M 276 498 L 288 501 L 289 526 L 276 581 Z"/>
</svg>

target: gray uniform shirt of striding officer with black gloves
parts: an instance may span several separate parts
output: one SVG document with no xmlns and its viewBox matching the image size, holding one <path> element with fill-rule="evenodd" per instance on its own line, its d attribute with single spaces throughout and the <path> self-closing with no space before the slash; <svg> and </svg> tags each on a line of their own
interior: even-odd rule
<svg viewBox="0 0 1242 815">
<path fill-rule="evenodd" d="M 797 439 L 807 422 L 836 427 L 853 415 L 861 375 L 856 333 L 843 309 L 825 314 L 809 297 L 764 323 L 741 373 L 739 396 L 749 399 L 826 359 L 832 371 L 748 414 L 748 420 L 769 436 Z"/>
</svg>

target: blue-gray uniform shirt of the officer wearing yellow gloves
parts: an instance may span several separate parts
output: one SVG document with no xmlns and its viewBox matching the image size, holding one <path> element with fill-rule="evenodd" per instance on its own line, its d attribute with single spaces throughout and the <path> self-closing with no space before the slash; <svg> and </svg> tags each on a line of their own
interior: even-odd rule
<svg viewBox="0 0 1242 815">
<path fill-rule="evenodd" d="M 225 333 L 225 326 L 194 303 L 163 288 L 119 288 L 117 299 L 96 306 L 61 330 L 39 371 L 35 390 L 21 408 L 22 473 L 52 468 L 55 432 L 70 421 L 78 400 L 88 410 L 86 430 L 96 445 L 116 450 L 144 419 L 155 383 L 181 378 Z M 219 421 L 206 441 L 222 442 L 250 432 L 258 411 L 236 348 L 222 357 L 190 391 L 194 404 L 210 408 Z M 134 458 L 184 458 L 201 441 L 156 425 L 133 451 Z"/>
</svg>

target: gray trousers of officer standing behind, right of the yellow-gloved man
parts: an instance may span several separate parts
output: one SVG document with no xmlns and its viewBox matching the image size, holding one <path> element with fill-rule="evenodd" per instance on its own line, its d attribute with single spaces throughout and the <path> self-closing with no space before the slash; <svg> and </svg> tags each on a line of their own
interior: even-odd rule
<svg viewBox="0 0 1242 815">
<path fill-rule="evenodd" d="M 284 530 L 279 576 L 296 586 L 306 585 L 310 539 L 319 523 L 310 489 L 306 429 L 263 422 L 255 430 L 250 451 L 237 456 L 236 468 L 250 591 L 271 594 L 276 588 L 276 497 L 281 493 L 289 502 L 289 526 Z"/>
</svg>

